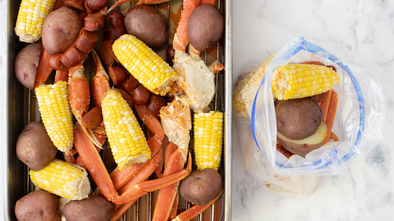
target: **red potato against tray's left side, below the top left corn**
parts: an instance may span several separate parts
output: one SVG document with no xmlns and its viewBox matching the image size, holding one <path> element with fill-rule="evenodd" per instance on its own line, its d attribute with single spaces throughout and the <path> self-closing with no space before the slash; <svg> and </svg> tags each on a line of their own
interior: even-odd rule
<svg viewBox="0 0 394 221">
<path fill-rule="evenodd" d="M 41 43 L 26 45 L 15 59 L 15 75 L 23 86 L 33 89 L 40 61 Z"/>
</svg>

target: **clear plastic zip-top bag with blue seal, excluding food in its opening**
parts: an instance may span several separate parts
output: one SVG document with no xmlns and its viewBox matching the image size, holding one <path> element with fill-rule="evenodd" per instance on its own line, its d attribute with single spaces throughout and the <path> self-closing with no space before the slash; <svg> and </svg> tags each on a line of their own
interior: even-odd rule
<svg viewBox="0 0 394 221">
<path fill-rule="evenodd" d="M 321 62 L 336 69 L 339 82 L 332 132 L 339 141 L 305 157 L 286 157 L 276 149 L 277 129 L 271 82 L 273 72 L 289 63 Z M 248 173 L 271 189 L 310 194 L 321 176 L 340 174 L 382 139 L 384 97 L 374 72 L 346 47 L 311 37 L 294 37 L 247 77 L 233 94 L 234 125 Z"/>
</svg>

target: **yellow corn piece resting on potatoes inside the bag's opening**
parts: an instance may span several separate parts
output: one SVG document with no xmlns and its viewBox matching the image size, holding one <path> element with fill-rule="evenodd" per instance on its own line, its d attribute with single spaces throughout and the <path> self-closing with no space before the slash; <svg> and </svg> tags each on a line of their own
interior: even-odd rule
<svg viewBox="0 0 394 221">
<path fill-rule="evenodd" d="M 287 64 L 274 71 L 272 91 L 279 100 L 302 98 L 324 93 L 338 82 L 336 72 L 326 66 Z"/>
</svg>

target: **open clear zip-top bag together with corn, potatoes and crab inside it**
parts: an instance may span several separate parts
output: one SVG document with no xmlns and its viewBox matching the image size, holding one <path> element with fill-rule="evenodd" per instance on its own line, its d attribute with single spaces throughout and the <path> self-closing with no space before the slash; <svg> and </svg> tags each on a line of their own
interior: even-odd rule
<svg viewBox="0 0 394 221">
<path fill-rule="evenodd" d="M 384 97 L 375 73 L 346 47 L 294 37 L 233 93 L 248 173 L 285 195 L 310 195 L 382 139 Z"/>
</svg>

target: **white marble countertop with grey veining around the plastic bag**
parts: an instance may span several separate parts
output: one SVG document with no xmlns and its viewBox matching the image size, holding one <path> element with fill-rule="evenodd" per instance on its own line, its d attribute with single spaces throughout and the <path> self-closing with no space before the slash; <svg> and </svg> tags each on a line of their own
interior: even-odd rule
<svg viewBox="0 0 394 221">
<path fill-rule="evenodd" d="M 252 68 L 251 61 L 262 61 L 288 38 L 314 36 L 341 43 L 365 61 L 380 78 L 386 100 L 383 141 L 350 170 L 323 178 L 316 192 L 307 197 L 283 196 L 257 183 L 245 169 L 234 134 L 233 220 L 390 220 L 394 217 L 394 151 L 390 146 L 394 143 L 391 135 L 394 117 L 390 115 L 394 108 L 393 15 L 394 1 L 233 1 L 234 83 L 239 74 Z M 2 203 L 0 200 L 1 207 Z M 2 213 L 0 210 L 0 217 Z"/>
</svg>

